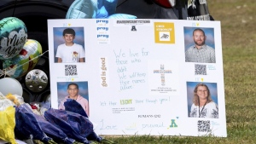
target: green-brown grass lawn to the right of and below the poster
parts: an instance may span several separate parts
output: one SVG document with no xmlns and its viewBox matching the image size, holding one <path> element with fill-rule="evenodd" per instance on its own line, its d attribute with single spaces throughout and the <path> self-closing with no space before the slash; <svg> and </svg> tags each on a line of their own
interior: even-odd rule
<svg viewBox="0 0 256 144">
<path fill-rule="evenodd" d="M 221 21 L 227 137 L 108 136 L 119 144 L 256 143 L 256 3 L 255 0 L 207 0 Z"/>
</svg>

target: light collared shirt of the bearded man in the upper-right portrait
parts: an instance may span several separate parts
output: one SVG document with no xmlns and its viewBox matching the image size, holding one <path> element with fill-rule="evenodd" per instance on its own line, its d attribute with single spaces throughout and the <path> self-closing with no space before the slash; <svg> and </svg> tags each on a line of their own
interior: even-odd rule
<svg viewBox="0 0 256 144">
<path fill-rule="evenodd" d="M 196 49 L 195 45 L 191 46 L 185 52 L 186 62 L 199 62 L 199 63 L 216 63 L 215 49 L 208 45 L 203 45 L 201 49 Z"/>
</svg>

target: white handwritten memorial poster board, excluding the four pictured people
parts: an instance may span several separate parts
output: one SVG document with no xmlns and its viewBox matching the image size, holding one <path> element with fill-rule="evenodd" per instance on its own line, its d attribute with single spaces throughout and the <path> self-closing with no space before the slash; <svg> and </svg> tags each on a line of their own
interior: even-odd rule
<svg viewBox="0 0 256 144">
<path fill-rule="evenodd" d="M 67 27 L 75 29 L 85 62 L 56 62 Z M 195 28 L 205 32 L 216 62 L 185 62 Z M 96 134 L 227 136 L 219 21 L 48 20 L 48 33 L 52 107 L 67 84 L 79 84 Z M 217 118 L 189 116 L 197 84 L 207 85 Z"/>
</svg>

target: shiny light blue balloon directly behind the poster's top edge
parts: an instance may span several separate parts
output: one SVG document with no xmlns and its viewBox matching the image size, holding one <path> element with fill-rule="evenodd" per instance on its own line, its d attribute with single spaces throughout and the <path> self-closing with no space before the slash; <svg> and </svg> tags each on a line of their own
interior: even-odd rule
<svg viewBox="0 0 256 144">
<path fill-rule="evenodd" d="M 118 0 L 75 0 L 66 19 L 136 19 L 131 14 L 115 14 Z"/>
</svg>

